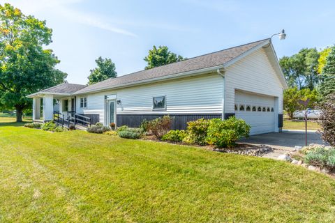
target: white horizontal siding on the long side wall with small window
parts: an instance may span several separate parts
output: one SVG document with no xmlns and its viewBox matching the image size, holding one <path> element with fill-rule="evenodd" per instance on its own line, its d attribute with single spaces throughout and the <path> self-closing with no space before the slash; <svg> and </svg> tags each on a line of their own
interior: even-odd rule
<svg viewBox="0 0 335 223">
<path fill-rule="evenodd" d="M 99 114 L 104 123 L 105 95 L 116 94 L 117 114 L 221 114 L 223 111 L 223 78 L 218 74 L 175 79 L 115 91 L 87 95 L 87 108 L 77 113 Z M 153 97 L 165 95 L 166 109 L 152 109 Z"/>
</svg>

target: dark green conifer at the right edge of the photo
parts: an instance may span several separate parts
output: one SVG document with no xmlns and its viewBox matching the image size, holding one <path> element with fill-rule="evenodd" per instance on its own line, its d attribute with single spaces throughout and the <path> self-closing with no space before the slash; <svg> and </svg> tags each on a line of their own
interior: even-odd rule
<svg viewBox="0 0 335 223">
<path fill-rule="evenodd" d="M 329 52 L 322 68 L 319 91 L 323 97 L 335 93 L 335 46 Z"/>
</svg>

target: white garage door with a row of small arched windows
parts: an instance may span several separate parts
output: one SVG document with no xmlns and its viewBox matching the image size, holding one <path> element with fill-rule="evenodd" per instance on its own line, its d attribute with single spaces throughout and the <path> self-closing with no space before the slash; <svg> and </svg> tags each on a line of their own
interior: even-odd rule
<svg viewBox="0 0 335 223">
<path fill-rule="evenodd" d="M 236 91 L 235 116 L 251 125 L 250 134 L 274 132 L 274 97 Z"/>
</svg>

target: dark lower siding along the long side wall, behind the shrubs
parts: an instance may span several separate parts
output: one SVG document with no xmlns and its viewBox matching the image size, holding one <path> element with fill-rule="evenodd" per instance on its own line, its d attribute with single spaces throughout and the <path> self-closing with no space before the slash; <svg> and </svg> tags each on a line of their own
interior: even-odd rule
<svg viewBox="0 0 335 223">
<path fill-rule="evenodd" d="M 127 125 L 128 127 L 137 128 L 143 119 L 148 121 L 163 117 L 163 114 L 117 114 L 117 126 Z M 188 121 L 195 121 L 199 118 L 211 119 L 221 118 L 221 114 L 170 114 L 172 118 L 172 129 L 184 130 Z"/>
</svg>

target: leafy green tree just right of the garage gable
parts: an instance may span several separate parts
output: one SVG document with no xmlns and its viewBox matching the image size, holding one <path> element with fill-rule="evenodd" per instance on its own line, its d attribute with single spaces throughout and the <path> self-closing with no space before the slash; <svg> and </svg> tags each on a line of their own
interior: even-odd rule
<svg viewBox="0 0 335 223">
<path fill-rule="evenodd" d="M 281 68 L 291 88 L 313 90 L 319 82 L 318 59 L 320 54 L 315 48 L 301 49 L 292 56 L 283 56 L 279 60 Z"/>
</svg>

